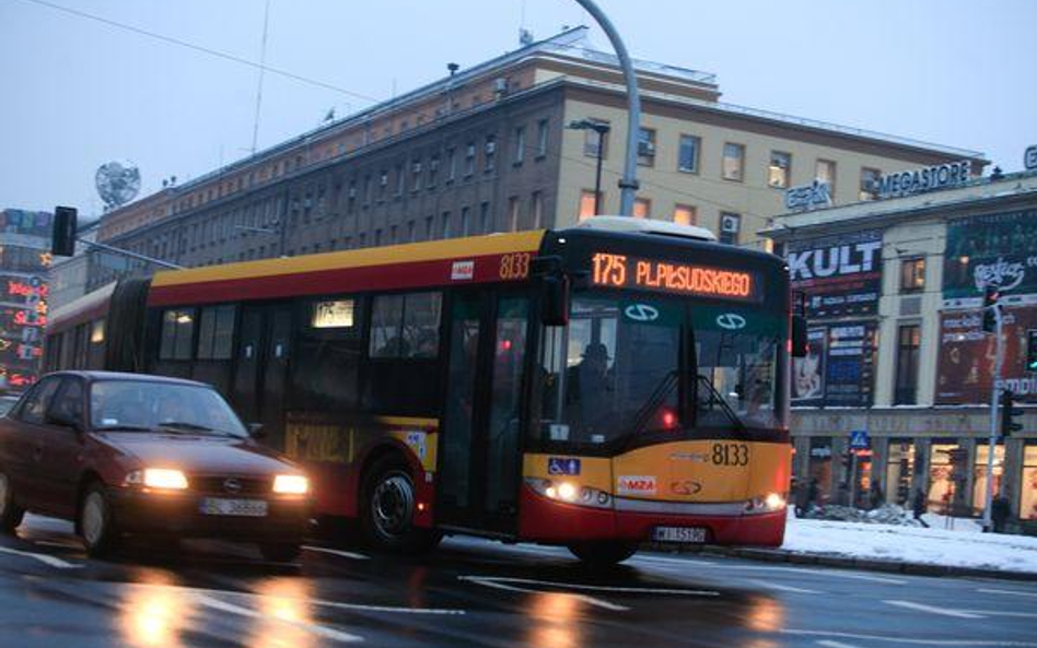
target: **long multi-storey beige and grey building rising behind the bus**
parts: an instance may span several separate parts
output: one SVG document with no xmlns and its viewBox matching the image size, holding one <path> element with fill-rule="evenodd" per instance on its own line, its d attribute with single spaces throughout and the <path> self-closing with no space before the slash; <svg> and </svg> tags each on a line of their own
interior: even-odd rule
<svg viewBox="0 0 1037 648">
<path fill-rule="evenodd" d="M 534 43 L 106 214 L 98 240 L 185 266 L 561 227 L 618 212 L 627 128 L 615 57 L 583 27 Z M 882 172 L 980 154 L 720 102 L 715 76 L 638 61 L 636 215 L 696 223 L 726 243 L 820 178 L 836 203 Z M 573 121 L 607 122 L 602 142 Z M 148 268 L 139 267 L 147 271 Z M 91 284 L 117 271 L 97 268 Z"/>
</svg>

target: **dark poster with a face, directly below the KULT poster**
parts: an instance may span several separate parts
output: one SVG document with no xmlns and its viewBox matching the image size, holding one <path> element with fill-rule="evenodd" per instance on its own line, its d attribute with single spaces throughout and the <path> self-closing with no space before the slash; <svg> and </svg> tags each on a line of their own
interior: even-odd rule
<svg viewBox="0 0 1037 648">
<path fill-rule="evenodd" d="M 804 407 L 869 407 L 874 389 L 876 325 L 871 321 L 815 327 L 805 357 L 793 363 L 792 403 Z"/>
</svg>

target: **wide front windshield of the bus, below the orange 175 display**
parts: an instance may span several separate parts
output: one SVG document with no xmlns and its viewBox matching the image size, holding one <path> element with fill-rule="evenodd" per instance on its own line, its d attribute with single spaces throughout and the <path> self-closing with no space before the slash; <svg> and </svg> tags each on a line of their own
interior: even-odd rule
<svg viewBox="0 0 1037 648">
<path fill-rule="evenodd" d="M 780 317 L 751 306 L 578 294 L 569 326 L 545 329 L 541 438 L 604 447 L 664 431 L 779 427 L 783 332 Z"/>
</svg>

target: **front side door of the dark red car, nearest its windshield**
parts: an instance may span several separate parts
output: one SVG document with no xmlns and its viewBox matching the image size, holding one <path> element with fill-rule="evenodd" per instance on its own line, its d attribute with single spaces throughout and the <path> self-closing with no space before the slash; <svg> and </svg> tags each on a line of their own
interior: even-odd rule
<svg viewBox="0 0 1037 648">
<path fill-rule="evenodd" d="M 85 386 L 79 376 L 65 376 L 47 407 L 44 424 L 34 439 L 35 471 L 39 474 L 43 506 L 61 517 L 75 514 L 75 487 L 82 464 L 85 429 Z M 59 422 L 74 422 L 65 425 Z"/>
</svg>

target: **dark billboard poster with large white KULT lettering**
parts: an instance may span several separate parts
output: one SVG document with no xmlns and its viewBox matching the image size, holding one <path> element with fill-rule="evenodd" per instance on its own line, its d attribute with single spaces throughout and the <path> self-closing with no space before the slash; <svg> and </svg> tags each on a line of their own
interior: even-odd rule
<svg viewBox="0 0 1037 648">
<path fill-rule="evenodd" d="M 882 231 L 792 240 L 785 246 L 792 290 L 806 295 L 806 317 L 878 313 Z"/>
</svg>

